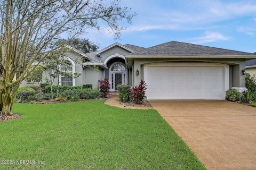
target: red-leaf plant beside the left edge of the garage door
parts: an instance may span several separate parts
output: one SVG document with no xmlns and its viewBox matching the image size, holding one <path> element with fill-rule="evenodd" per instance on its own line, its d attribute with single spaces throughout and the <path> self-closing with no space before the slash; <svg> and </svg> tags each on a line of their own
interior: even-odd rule
<svg viewBox="0 0 256 170">
<path fill-rule="evenodd" d="M 146 86 L 145 81 L 141 80 L 139 86 L 135 86 L 132 88 L 132 100 L 135 104 L 141 105 L 143 103 L 144 98 L 146 97 Z"/>
</svg>

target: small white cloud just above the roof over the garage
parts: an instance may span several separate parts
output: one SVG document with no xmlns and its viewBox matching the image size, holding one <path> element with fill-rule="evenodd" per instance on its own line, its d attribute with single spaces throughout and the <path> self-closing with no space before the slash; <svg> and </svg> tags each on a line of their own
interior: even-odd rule
<svg viewBox="0 0 256 170">
<path fill-rule="evenodd" d="M 229 40 L 230 38 L 222 35 L 220 32 L 206 31 L 205 36 L 190 38 L 188 41 L 193 44 L 204 44 L 220 40 Z"/>
</svg>

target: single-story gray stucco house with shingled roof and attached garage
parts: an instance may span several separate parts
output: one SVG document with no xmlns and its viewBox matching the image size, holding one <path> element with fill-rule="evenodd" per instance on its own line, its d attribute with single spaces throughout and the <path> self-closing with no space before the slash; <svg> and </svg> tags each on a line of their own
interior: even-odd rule
<svg viewBox="0 0 256 170">
<path fill-rule="evenodd" d="M 70 46 L 69 46 L 70 47 Z M 225 99 L 225 91 L 245 88 L 245 61 L 256 54 L 171 41 L 143 48 L 114 43 L 97 52 L 84 54 L 70 47 L 67 58 L 72 72 L 81 72 L 77 79 L 62 78 L 72 86 L 93 84 L 109 78 L 110 90 L 118 84 L 136 86 L 147 83 L 147 99 Z M 75 58 L 86 57 L 83 64 Z M 87 66 L 98 66 L 98 72 Z"/>
</svg>

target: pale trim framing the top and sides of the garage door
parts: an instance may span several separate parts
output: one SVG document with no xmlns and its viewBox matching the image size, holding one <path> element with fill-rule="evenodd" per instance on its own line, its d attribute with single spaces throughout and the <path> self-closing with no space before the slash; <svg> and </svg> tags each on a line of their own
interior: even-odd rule
<svg viewBox="0 0 256 170">
<path fill-rule="evenodd" d="M 229 89 L 229 65 L 227 64 L 220 64 L 220 63 L 151 63 L 151 64 L 145 64 L 143 65 L 143 77 L 145 82 L 147 83 L 147 67 L 153 67 L 153 66 L 172 66 L 172 67 L 223 67 L 223 95 L 222 100 L 226 99 L 226 90 Z M 147 91 L 146 91 L 147 95 Z"/>
</svg>

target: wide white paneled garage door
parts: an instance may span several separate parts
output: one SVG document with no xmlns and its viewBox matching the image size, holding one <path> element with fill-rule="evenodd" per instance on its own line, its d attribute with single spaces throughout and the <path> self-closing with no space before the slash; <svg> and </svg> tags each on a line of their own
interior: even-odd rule
<svg viewBox="0 0 256 170">
<path fill-rule="evenodd" d="M 225 99 L 223 66 L 147 66 L 147 99 Z"/>
</svg>

